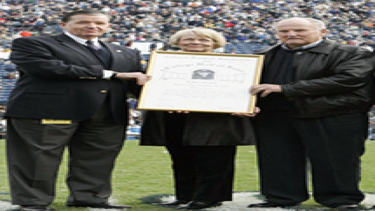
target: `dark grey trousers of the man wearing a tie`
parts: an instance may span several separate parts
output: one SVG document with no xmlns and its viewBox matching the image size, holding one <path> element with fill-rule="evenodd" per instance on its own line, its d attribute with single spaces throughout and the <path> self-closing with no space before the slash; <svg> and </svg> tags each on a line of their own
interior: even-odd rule
<svg viewBox="0 0 375 211">
<path fill-rule="evenodd" d="M 69 149 L 68 203 L 107 202 L 111 172 L 123 146 L 124 125 L 114 124 L 108 103 L 92 118 L 72 124 L 40 119 L 7 122 L 10 192 L 15 205 L 49 205 L 65 147 Z"/>
</svg>

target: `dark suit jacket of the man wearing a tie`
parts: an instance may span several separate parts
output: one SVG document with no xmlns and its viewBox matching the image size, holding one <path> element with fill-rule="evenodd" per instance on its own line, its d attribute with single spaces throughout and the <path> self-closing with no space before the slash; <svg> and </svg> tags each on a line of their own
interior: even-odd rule
<svg viewBox="0 0 375 211">
<path fill-rule="evenodd" d="M 111 52 L 110 70 L 141 71 L 139 51 L 101 42 Z M 13 41 L 10 60 L 20 79 L 9 96 L 6 117 L 89 118 L 107 95 L 115 122 L 127 122 L 126 93 L 138 94 L 135 81 L 106 80 L 105 69 L 84 45 L 66 35 L 31 36 Z"/>
</svg>

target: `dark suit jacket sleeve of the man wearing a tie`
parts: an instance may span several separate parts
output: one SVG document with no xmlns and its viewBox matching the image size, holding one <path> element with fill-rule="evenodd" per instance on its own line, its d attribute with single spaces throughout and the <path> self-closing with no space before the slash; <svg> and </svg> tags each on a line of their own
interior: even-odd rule
<svg viewBox="0 0 375 211">
<path fill-rule="evenodd" d="M 102 65 L 68 64 L 55 56 L 52 49 L 53 47 L 37 39 L 18 38 L 13 41 L 10 60 L 21 68 L 21 74 L 24 72 L 36 78 L 54 80 L 102 78 L 104 69 Z"/>
</svg>

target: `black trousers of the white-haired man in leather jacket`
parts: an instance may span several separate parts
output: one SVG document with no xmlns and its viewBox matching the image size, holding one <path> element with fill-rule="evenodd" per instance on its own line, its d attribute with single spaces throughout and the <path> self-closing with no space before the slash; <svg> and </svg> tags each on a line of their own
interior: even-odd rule
<svg viewBox="0 0 375 211">
<path fill-rule="evenodd" d="M 361 202 L 360 157 L 365 151 L 366 113 L 293 118 L 261 112 L 255 120 L 261 193 L 281 204 L 308 199 L 306 156 L 314 198 L 335 207 Z"/>
</svg>

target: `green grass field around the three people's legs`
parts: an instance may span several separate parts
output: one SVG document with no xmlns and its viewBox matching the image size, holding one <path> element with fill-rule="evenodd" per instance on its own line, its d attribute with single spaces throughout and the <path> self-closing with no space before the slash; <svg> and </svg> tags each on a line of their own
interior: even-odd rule
<svg viewBox="0 0 375 211">
<path fill-rule="evenodd" d="M 375 141 L 368 141 L 362 159 L 361 188 L 375 192 Z M 169 154 L 163 147 L 138 146 L 138 141 L 127 140 L 117 159 L 113 173 L 113 197 L 116 204 L 133 206 L 132 211 L 174 210 L 142 203 L 145 197 L 173 194 L 172 171 Z M 87 208 L 66 208 L 68 189 L 65 185 L 66 160 L 63 161 L 57 181 L 55 202 L 51 205 L 58 211 L 84 211 Z M 257 191 L 258 170 L 254 146 L 238 147 L 236 160 L 235 191 Z M 0 200 L 9 200 L 6 172 L 5 141 L 0 140 Z M 315 206 L 315 202 L 305 202 Z"/>
</svg>

